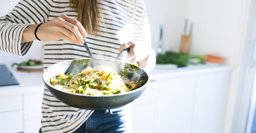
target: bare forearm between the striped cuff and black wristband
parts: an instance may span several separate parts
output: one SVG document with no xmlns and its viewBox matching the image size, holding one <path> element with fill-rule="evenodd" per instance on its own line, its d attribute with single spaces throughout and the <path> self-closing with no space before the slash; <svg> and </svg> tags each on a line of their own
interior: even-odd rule
<svg viewBox="0 0 256 133">
<path fill-rule="evenodd" d="M 38 24 L 33 24 L 26 27 L 26 29 L 22 33 L 21 43 L 27 43 L 37 40 L 34 34 L 36 26 L 38 26 Z"/>
</svg>

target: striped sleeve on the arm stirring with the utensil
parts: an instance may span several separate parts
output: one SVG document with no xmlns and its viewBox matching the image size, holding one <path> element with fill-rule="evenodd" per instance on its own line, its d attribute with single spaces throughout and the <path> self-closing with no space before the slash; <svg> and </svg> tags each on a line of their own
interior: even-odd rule
<svg viewBox="0 0 256 133">
<path fill-rule="evenodd" d="M 31 24 L 46 22 L 51 0 L 21 0 L 13 10 L 0 17 L 0 50 L 24 56 L 32 42 L 22 43 L 22 33 Z"/>
</svg>

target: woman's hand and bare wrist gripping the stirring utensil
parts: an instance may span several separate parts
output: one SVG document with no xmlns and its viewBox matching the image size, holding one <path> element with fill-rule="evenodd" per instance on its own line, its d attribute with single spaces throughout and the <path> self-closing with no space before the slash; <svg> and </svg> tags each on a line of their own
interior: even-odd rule
<svg viewBox="0 0 256 133">
<path fill-rule="evenodd" d="M 21 43 L 37 40 L 34 35 L 37 25 L 30 25 L 24 30 Z M 84 43 L 84 38 L 87 37 L 87 33 L 80 22 L 64 14 L 40 25 L 36 35 L 44 42 L 62 39 L 75 44 Z"/>
</svg>

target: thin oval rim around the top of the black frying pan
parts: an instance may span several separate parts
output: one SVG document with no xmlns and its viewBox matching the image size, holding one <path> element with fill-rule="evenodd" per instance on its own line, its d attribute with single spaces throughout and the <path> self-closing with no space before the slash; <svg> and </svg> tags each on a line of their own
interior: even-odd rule
<svg viewBox="0 0 256 133">
<path fill-rule="evenodd" d="M 81 58 L 81 59 L 90 59 L 90 58 Z M 97 59 L 103 59 L 103 58 L 97 58 Z M 67 60 L 67 61 L 73 61 L 73 60 L 75 60 L 75 59 L 71 59 L 71 60 Z M 113 59 L 103 59 L 103 60 L 111 60 L 111 61 L 113 61 Z M 62 62 L 67 62 L 67 61 L 62 61 Z M 117 61 L 117 60 L 114 60 L 114 61 Z M 49 66 L 49 67 L 52 67 L 52 66 L 57 65 L 57 64 L 62 63 L 62 62 L 58 62 L 58 63 L 56 63 L 56 64 L 53 64 L 53 65 Z M 119 62 L 121 62 L 121 61 L 119 61 Z M 127 62 L 122 62 L 122 63 L 127 63 Z M 127 64 L 133 65 L 133 64 L 131 64 L 131 63 L 127 63 Z M 49 68 L 49 67 L 48 67 L 48 68 Z M 139 66 L 136 66 L 136 67 L 142 69 L 142 68 L 139 67 Z M 46 68 L 46 70 L 47 70 L 48 68 Z M 53 88 L 53 86 L 52 86 L 51 84 L 49 84 L 47 81 L 44 80 L 44 73 L 46 72 L 46 70 L 44 70 L 44 72 L 43 72 L 43 81 L 44 81 L 44 84 L 48 85 L 48 86 L 51 87 L 52 89 L 55 89 L 55 88 Z M 143 70 L 143 69 L 142 69 L 142 70 Z M 143 70 L 143 71 L 144 71 L 144 70 Z M 144 72 L 146 72 L 146 71 L 144 71 Z M 144 87 L 146 87 L 146 86 L 149 84 L 149 82 L 150 82 L 150 76 L 148 75 L 148 72 L 146 72 L 146 74 L 147 74 L 147 76 L 148 76 L 148 80 L 147 80 L 146 84 L 144 84 L 143 86 L 141 86 L 141 87 L 138 88 L 138 89 L 131 90 L 131 91 L 129 91 L 129 92 L 122 93 L 122 94 L 95 96 L 95 95 L 84 95 L 84 94 L 79 94 L 79 93 L 72 93 L 72 92 L 62 91 L 62 90 L 58 90 L 58 89 L 55 89 L 55 90 L 58 90 L 58 91 L 61 91 L 61 92 L 67 93 L 67 94 L 77 95 L 77 96 L 83 96 L 83 97 L 97 97 L 97 98 L 100 98 L 100 97 L 115 97 L 115 96 L 121 96 L 121 95 L 128 95 L 128 94 L 135 93 L 135 92 L 137 92 L 137 91 L 143 89 Z"/>
</svg>

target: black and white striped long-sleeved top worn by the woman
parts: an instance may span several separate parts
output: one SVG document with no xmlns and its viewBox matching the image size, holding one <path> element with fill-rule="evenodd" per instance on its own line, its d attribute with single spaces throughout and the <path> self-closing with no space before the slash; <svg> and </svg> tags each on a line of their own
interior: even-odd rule
<svg viewBox="0 0 256 133">
<path fill-rule="evenodd" d="M 150 28 L 142 1 L 138 0 L 136 11 L 132 0 L 101 0 L 98 4 L 102 16 L 98 33 L 86 38 L 96 58 L 114 59 L 118 54 L 117 48 L 132 40 L 151 48 Z M 9 14 L 0 18 L 0 50 L 24 56 L 32 44 L 20 44 L 24 29 L 30 24 L 47 22 L 61 14 L 77 17 L 77 13 L 69 7 L 69 0 L 20 1 Z M 89 57 L 82 45 L 66 40 L 44 44 L 44 68 L 79 57 Z M 91 110 L 70 107 L 44 89 L 42 132 L 73 132 L 92 113 Z"/>
</svg>

